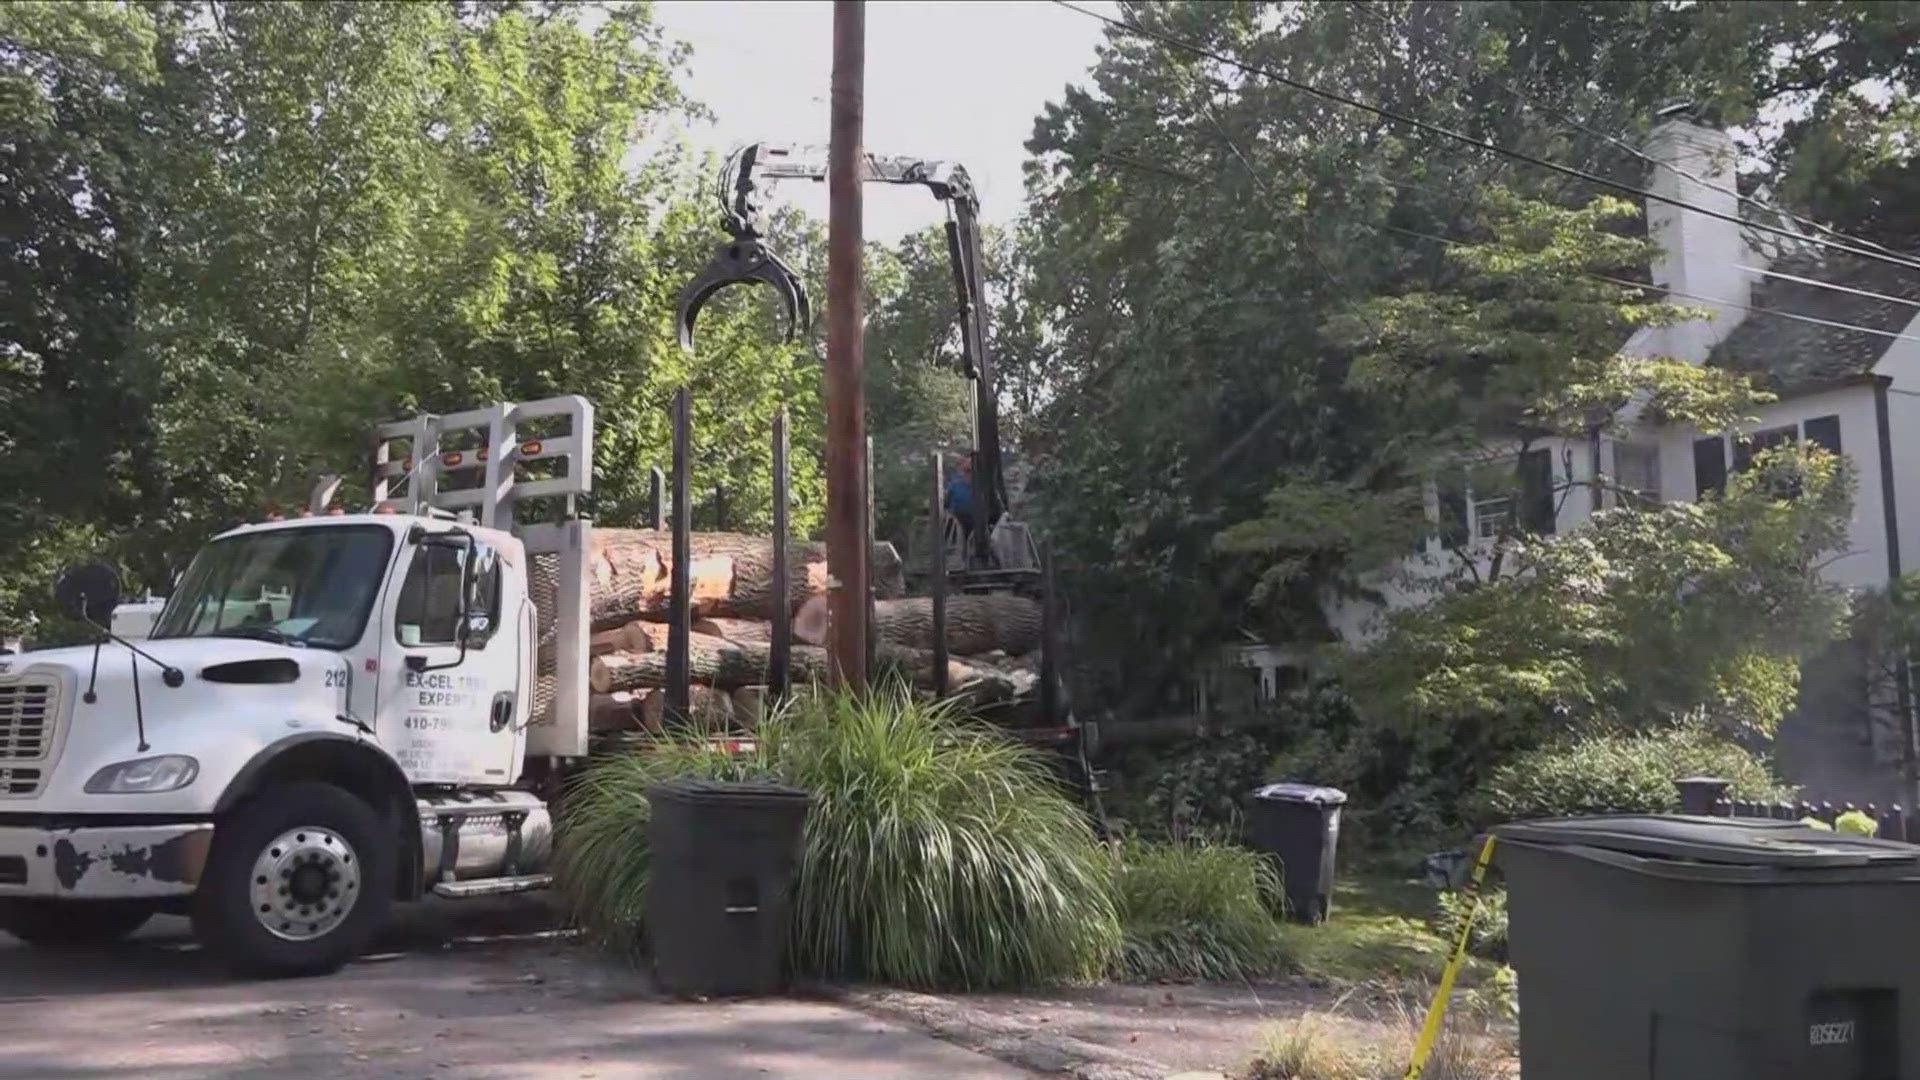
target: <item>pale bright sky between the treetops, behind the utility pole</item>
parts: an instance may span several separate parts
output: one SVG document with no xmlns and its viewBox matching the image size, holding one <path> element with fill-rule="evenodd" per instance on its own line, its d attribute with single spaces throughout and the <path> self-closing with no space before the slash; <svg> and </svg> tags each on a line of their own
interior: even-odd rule
<svg viewBox="0 0 1920 1080">
<path fill-rule="evenodd" d="M 1116 4 L 1091 2 L 1102 13 Z M 958 161 L 981 217 L 1012 221 L 1033 119 L 1085 83 L 1100 23 L 1046 0 L 872 0 L 866 6 L 866 148 Z M 829 0 L 659 0 L 670 38 L 693 46 L 685 90 L 714 111 L 701 146 L 828 144 L 833 60 Z M 826 217 L 826 184 L 789 181 L 780 198 Z M 866 186 L 866 236 L 891 242 L 945 221 L 920 188 Z"/>
</svg>

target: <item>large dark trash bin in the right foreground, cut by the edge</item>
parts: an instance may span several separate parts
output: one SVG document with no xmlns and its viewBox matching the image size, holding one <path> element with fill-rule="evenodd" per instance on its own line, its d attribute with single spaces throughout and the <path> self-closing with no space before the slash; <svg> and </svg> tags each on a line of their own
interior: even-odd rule
<svg viewBox="0 0 1920 1080">
<path fill-rule="evenodd" d="M 1715 817 L 1494 834 L 1526 1080 L 1920 1080 L 1920 847 Z"/>
</svg>

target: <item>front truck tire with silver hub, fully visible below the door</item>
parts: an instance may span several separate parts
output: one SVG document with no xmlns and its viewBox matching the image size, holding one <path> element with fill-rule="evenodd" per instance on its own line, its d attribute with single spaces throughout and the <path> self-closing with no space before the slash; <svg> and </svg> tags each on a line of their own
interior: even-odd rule
<svg viewBox="0 0 1920 1080">
<path fill-rule="evenodd" d="M 332 784 L 290 784 L 213 832 L 194 936 L 238 974 L 340 970 L 386 920 L 394 872 L 372 807 Z"/>
</svg>

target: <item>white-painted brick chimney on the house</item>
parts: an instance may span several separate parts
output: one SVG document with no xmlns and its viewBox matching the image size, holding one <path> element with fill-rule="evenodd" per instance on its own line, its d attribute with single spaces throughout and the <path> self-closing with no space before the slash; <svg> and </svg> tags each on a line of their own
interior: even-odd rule
<svg viewBox="0 0 1920 1080">
<path fill-rule="evenodd" d="M 1740 217 L 1734 138 L 1726 131 L 1676 117 L 1653 129 L 1645 150 L 1655 161 L 1672 165 L 1651 165 L 1647 190 L 1688 204 L 1680 208 L 1647 200 L 1647 233 L 1661 248 L 1651 267 L 1653 282 L 1676 294 L 1674 304 L 1713 311 L 1711 319 L 1661 331 L 1661 352 L 1699 363 L 1747 315 L 1741 306 L 1753 298 L 1755 275 L 1740 267 L 1764 265 L 1747 246 L 1738 221 L 1690 209 Z"/>
</svg>

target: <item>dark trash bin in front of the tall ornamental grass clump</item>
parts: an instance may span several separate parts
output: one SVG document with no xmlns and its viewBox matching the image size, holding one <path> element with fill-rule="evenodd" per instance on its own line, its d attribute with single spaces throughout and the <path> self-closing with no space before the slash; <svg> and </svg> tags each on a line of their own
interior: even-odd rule
<svg viewBox="0 0 1920 1080">
<path fill-rule="evenodd" d="M 647 944 L 672 994 L 774 994 L 812 796 L 674 780 L 647 792 Z"/>
</svg>

